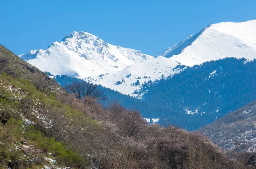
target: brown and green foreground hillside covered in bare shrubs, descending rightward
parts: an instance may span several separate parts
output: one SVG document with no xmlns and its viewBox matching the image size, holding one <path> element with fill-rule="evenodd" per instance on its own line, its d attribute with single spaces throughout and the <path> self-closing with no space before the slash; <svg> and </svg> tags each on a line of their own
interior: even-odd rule
<svg viewBox="0 0 256 169">
<path fill-rule="evenodd" d="M 0 84 L 1 168 L 252 167 L 203 135 L 147 125 L 137 111 L 67 93 L 3 46 Z"/>
</svg>

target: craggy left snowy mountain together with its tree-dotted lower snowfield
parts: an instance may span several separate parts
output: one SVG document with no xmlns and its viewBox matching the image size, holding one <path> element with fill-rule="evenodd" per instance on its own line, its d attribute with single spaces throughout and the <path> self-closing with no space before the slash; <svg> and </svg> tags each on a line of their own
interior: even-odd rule
<svg viewBox="0 0 256 169">
<path fill-rule="evenodd" d="M 144 81 L 154 82 L 182 70 L 176 68 L 176 61 L 111 45 L 83 31 L 74 31 L 45 50 L 29 51 L 20 57 L 53 75 L 75 76 L 130 95 Z"/>
</svg>

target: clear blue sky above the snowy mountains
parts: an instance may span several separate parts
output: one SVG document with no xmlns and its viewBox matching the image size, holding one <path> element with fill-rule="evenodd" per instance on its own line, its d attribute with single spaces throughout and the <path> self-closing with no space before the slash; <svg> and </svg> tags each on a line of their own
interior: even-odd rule
<svg viewBox="0 0 256 169">
<path fill-rule="evenodd" d="M 0 0 L 0 44 L 45 49 L 72 31 L 157 56 L 212 23 L 256 17 L 256 0 Z"/>
</svg>

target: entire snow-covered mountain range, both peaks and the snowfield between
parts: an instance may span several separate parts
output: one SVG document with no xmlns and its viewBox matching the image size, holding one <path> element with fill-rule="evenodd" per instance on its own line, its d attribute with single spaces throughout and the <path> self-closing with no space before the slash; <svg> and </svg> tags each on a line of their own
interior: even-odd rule
<svg viewBox="0 0 256 169">
<path fill-rule="evenodd" d="M 139 90 L 143 82 L 173 76 L 186 66 L 227 57 L 256 58 L 255 29 L 256 20 L 212 24 L 156 58 L 111 45 L 83 31 L 74 31 L 45 50 L 29 51 L 20 57 L 54 76 L 69 75 L 137 96 L 134 91 Z M 185 66 L 177 69 L 177 65 Z M 138 85 L 136 82 L 141 78 Z"/>
</svg>

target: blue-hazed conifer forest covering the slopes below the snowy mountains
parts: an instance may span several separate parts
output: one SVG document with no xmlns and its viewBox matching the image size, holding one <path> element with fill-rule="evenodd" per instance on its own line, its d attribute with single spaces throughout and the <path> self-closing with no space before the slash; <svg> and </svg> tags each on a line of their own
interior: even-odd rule
<svg viewBox="0 0 256 169">
<path fill-rule="evenodd" d="M 186 68 L 167 79 L 141 85 L 138 94 L 148 92 L 143 99 L 135 99 L 114 90 L 105 90 L 107 105 L 117 101 L 129 109 L 136 109 L 145 118 L 160 118 L 162 125 L 175 125 L 186 130 L 223 117 L 256 99 L 256 59 L 226 58 Z M 63 87 L 73 81 L 69 76 L 55 76 Z M 190 113 L 190 114 L 187 114 Z"/>
</svg>

